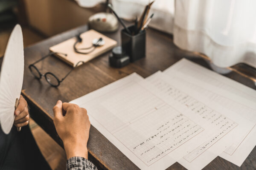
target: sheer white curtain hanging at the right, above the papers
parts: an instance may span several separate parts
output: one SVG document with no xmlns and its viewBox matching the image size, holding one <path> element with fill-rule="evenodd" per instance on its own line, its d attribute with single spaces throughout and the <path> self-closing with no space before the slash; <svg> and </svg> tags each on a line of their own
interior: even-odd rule
<svg viewBox="0 0 256 170">
<path fill-rule="evenodd" d="M 176 0 L 174 43 L 218 67 L 256 67 L 256 0 Z"/>
</svg>

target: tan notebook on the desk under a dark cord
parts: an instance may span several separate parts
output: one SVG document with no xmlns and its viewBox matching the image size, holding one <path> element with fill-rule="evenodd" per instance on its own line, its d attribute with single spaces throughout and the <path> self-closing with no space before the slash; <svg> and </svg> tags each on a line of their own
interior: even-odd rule
<svg viewBox="0 0 256 170">
<path fill-rule="evenodd" d="M 115 40 L 112 40 L 111 38 L 91 29 L 81 34 L 82 42 L 78 43 L 76 47 L 77 48 L 90 47 L 92 45 L 93 40 L 99 39 L 100 37 L 105 41 L 105 44 L 100 47 L 97 47 L 94 51 L 92 51 L 89 54 L 79 54 L 74 51 L 73 45 L 76 42 L 76 37 L 70 38 L 69 40 L 66 40 L 57 45 L 54 45 L 50 47 L 49 50 L 52 52 L 60 52 L 60 53 L 67 54 L 67 56 L 63 54 L 55 54 L 55 56 L 63 60 L 64 62 L 67 62 L 67 64 L 75 67 L 79 61 L 83 61 L 83 62 L 90 61 L 91 59 L 98 57 L 100 54 L 103 54 L 111 50 L 117 44 Z M 81 51 L 87 52 L 90 50 L 81 50 Z"/>
</svg>

